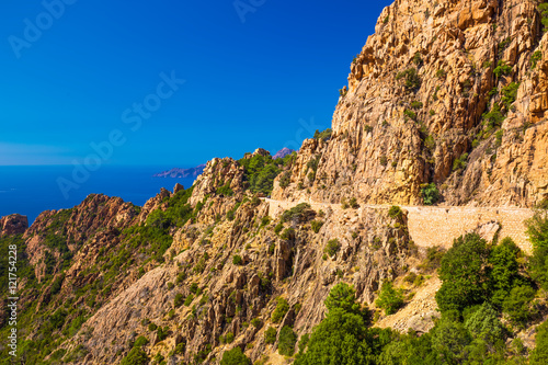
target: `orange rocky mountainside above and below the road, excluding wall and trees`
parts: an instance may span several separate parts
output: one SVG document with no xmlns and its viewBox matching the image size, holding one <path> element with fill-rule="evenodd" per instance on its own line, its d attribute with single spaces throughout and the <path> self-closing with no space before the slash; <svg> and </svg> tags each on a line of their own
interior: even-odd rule
<svg viewBox="0 0 548 365">
<path fill-rule="evenodd" d="M 397 0 L 352 62 L 332 130 L 297 153 L 216 158 L 192 187 L 162 189 L 142 207 L 90 195 L 30 228 L 1 218 L 1 249 L 18 247 L 21 363 L 218 364 L 236 347 L 256 364 L 292 363 L 283 329 L 306 338 L 338 283 L 378 327 L 427 332 L 439 317 L 442 253 L 418 247 L 407 212 L 390 205 L 421 205 L 425 189 L 442 205 L 547 198 L 548 41 L 537 5 Z M 295 203 L 271 212 L 261 198 L 271 192 Z M 376 298 L 392 282 L 404 308 L 386 316 Z M 521 354 L 545 299 L 526 330 L 505 337 L 525 339 Z"/>
</svg>

